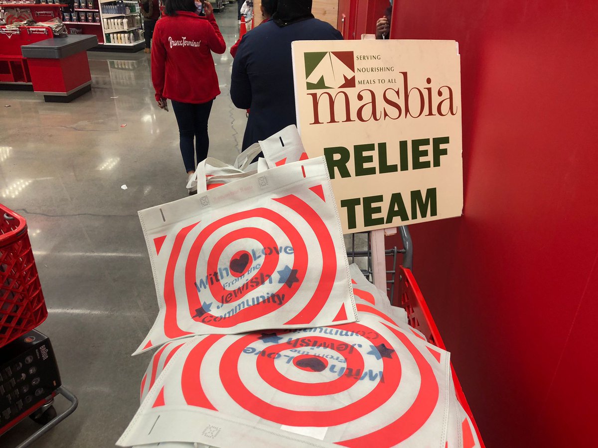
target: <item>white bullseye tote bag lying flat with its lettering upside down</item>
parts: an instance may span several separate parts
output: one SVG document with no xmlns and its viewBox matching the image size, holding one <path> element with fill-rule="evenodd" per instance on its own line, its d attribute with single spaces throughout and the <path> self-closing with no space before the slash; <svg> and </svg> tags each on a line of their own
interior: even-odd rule
<svg viewBox="0 0 598 448">
<path fill-rule="evenodd" d="M 119 446 L 446 444 L 449 354 L 374 315 L 360 313 L 359 323 L 340 326 L 185 341 Z"/>
</svg>

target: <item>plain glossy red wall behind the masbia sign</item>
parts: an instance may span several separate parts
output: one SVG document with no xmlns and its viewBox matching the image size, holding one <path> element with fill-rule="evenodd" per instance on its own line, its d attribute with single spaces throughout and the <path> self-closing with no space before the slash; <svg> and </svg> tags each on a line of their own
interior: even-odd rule
<svg viewBox="0 0 598 448">
<path fill-rule="evenodd" d="M 598 2 L 395 0 L 454 39 L 464 216 L 411 226 L 414 275 L 492 447 L 595 447 Z"/>
</svg>

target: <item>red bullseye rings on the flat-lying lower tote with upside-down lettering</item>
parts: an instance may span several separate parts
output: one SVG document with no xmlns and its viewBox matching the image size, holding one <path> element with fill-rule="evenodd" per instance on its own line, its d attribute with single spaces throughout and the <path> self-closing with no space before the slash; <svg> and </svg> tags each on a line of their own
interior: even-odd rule
<svg viewBox="0 0 598 448">
<path fill-rule="evenodd" d="M 335 338 L 334 336 L 311 335 L 310 340 L 317 339 L 319 346 L 328 347 L 325 349 L 325 352 L 334 352 L 343 357 L 346 361 L 347 370 L 352 369 L 351 372 L 359 372 L 359 374 L 355 376 L 341 375 L 338 378 L 332 379 L 332 381 L 327 381 L 323 376 L 323 382 L 294 381 L 279 372 L 276 363 L 283 362 L 281 361 L 281 357 L 295 353 L 289 352 L 289 350 L 293 346 L 296 346 L 294 344 L 296 339 L 303 339 L 305 337 L 305 333 L 301 333 L 301 336 L 298 336 L 296 333 L 281 332 L 279 333 L 279 337 L 269 335 L 266 337 L 266 340 L 263 340 L 263 336 L 260 337 L 260 333 L 252 333 L 244 336 L 224 336 L 227 340 L 230 339 L 231 343 L 224 349 L 224 354 L 221 356 L 218 366 L 212 364 L 202 366 L 202 361 L 210 349 L 213 348 L 218 350 L 218 352 L 222 350 L 222 345 L 214 347 L 214 344 L 219 340 L 224 342 L 224 340 L 221 340 L 223 336 L 208 336 L 202 339 L 192 349 L 183 367 L 182 388 L 185 400 L 187 404 L 192 406 L 205 407 L 227 414 L 233 412 L 230 409 L 230 405 L 219 409 L 215 398 L 212 398 L 210 401 L 205 392 L 208 390 L 207 388 L 210 388 L 210 390 L 213 390 L 213 388 L 224 388 L 228 397 L 240 408 L 276 424 L 316 427 L 355 424 L 358 419 L 376 412 L 380 406 L 383 406 L 398 391 L 402 379 L 402 366 L 397 352 L 392 348 L 394 343 L 395 345 L 402 346 L 403 349 L 407 349 L 411 357 L 413 357 L 410 363 L 414 363 L 417 370 L 419 370 L 421 382 L 417 397 L 409 409 L 402 415 L 397 416 L 393 421 L 390 421 L 386 426 L 350 440 L 334 441 L 334 443 L 350 447 L 393 446 L 413 435 L 428 421 L 437 406 L 440 389 L 434 370 L 413 342 L 401 331 L 386 324 L 384 324 L 384 327 L 388 330 L 385 330 L 385 334 L 388 337 L 374 332 L 370 327 L 362 324 L 329 327 L 330 329 L 341 330 L 343 332 L 352 332 L 351 337 L 359 338 L 361 340 L 360 345 L 363 347 L 382 346 L 385 349 L 385 351 L 379 352 L 379 357 L 376 357 L 376 359 L 379 358 L 380 360 L 375 361 L 376 366 L 382 363 L 381 370 L 384 373 L 384 379 L 381 381 L 382 377 L 380 377 L 379 381 L 371 389 L 365 390 L 365 395 L 363 395 L 363 388 L 361 392 L 351 391 L 359 381 L 359 375 L 361 375 L 361 372 L 364 372 L 364 368 L 368 369 L 368 362 L 374 362 L 374 357 L 370 358 L 373 355 L 362 355 L 362 351 L 358 349 L 349 349 L 348 347 L 354 347 L 351 344 L 347 344 L 346 340 L 343 340 L 344 337 L 337 336 Z M 270 343 L 268 339 L 279 342 Z M 343 344 L 343 349 L 338 351 L 337 347 L 340 344 Z M 260 351 L 255 352 L 256 349 Z M 319 354 L 321 355 L 322 351 Z M 266 396 L 260 397 L 255 392 L 249 390 L 240 376 L 240 370 L 248 369 L 248 364 L 246 362 L 241 364 L 240 360 L 246 360 L 248 359 L 246 357 L 251 356 L 256 357 L 255 367 L 251 368 L 255 368 L 255 373 L 257 374 L 257 376 L 252 376 L 252 378 L 259 378 L 264 382 L 263 385 L 259 383 L 252 385 L 252 390 L 263 389 L 267 391 L 274 389 L 275 391 L 286 394 L 309 397 L 306 398 L 303 410 L 293 410 L 288 409 L 288 407 L 271 404 L 270 397 L 272 392 L 265 392 Z M 318 360 L 317 358 L 320 359 Z M 318 373 L 314 372 L 320 368 L 319 362 L 328 366 L 328 362 L 324 363 L 324 361 L 321 361 L 322 359 L 314 355 L 303 354 L 292 358 L 291 362 L 283 362 L 282 365 L 286 369 L 297 369 L 298 371 L 305 372 L 304 375 L 312 375 L 312 373 L 313 375 L 318 375 Z M 318 363 L 313 363 L 313 360 L 318 361 Z M 297 364 L 301 364 L 301 366 Z M 310 370 L 313 370 L 312 367 L 315 370 L 310 372 Z M 199 382 L 200 370 L 202 372 L 202 382 L 198 387 L 197 382 Z M 212 383 L 212 379 L 214 378 L 219 378 L 219 381 Z M 328 376 L 327 378 L 330 377 Z M 347 394 L 346 398 L 339 398 L 343 402 L 343 406 L 338 407 L 338 409 L 321 410 L 321 407 L 318 406 L 321 400 L 318 400 L 318 397 L 333 394 Z M 217 395 L 212 396 L 215 397 Z M 340 397 L 343 397 L 343 395 L 340 395 Z"/>
</svg>

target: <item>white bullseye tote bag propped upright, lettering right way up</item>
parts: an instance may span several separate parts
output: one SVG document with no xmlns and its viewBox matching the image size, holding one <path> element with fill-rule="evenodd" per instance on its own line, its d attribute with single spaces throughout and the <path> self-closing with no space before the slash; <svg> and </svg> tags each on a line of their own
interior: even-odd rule
<svg viewBox="0 0 598 448">
<path fill-rule="evenodd" d="M 356 320 L 324 158 L 139 212 L 160 312 L 136 353 L 208 333 Z"/>
</svg>

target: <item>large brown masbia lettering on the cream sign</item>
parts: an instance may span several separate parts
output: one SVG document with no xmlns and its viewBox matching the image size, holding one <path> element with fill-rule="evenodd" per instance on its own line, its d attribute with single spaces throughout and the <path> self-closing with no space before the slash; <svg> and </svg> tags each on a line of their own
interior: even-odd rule
<svg viewBox="0 0 598 448">
<path fill-rule="evenodd" d="M 410 86 L 407 72 L 399 75 L 402 78 L 396 80 L 399 86 L 396 88 L 343 90 L 349 87 L 343 85 L 334 92 L 308 92 L 313 110 L 310 124 L 456 115 L 453 89 L 449 85 L 433 86 L 432 78 L 426 78 L 422 80 L 423 87 Z"/>
</svg>

